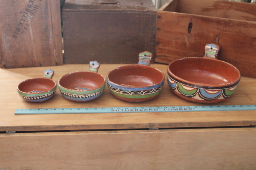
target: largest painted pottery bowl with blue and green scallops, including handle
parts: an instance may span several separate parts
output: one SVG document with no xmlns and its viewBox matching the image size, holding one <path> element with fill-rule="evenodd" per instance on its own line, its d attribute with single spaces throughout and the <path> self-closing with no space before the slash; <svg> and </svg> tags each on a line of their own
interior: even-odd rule
<svg viewBox="0 0 256 170">
<path fill-rule="evenodd" d="M 218 103 L 229 99 L 240 82 L 240 72 L 233 65 L 217 60 L 220 47 L 205 46 L 204 57 L 186 57 L 167 68 L 167 81 L 179 97 L 197 103 Z"/>
</svg>

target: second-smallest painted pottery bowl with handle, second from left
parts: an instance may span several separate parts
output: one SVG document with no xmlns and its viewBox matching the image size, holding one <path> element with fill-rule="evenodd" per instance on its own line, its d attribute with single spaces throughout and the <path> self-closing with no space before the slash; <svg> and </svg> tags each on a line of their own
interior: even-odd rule
<svg viewBox="0 0 256 170">
<path fill-rule="evenodd" d="M 71 101 L 90 101 L 102 94 L 105 78 L 98 73 L 100 63 L 90 62 L 88 71 L 75 71 L 62 76 L 58 87 L 63 97 Z"/>
</svg>

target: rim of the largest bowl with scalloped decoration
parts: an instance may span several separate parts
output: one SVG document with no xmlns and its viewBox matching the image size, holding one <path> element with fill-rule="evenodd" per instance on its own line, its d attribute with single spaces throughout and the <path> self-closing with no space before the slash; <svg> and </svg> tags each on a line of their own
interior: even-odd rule
<svg viewBox="0 0 256 170">
<path fill-rule="evenodd" d="M 200 60 L 201 59 L 202 60 L 213 60 L 213 61 L 216 61 L 216 62 L 222 62 L 222 63 L 228 64 L 228 65 L 232 66 L 235 70 L 237 70 L 239 76 L 238 76 L 238 78 L 235 81 L 230 82 L 230 83 L 226 83 L 226 84 L 221 84 L 221 85 L 217 85 L 217 84 L 216 85 L 210 85 L 210 84 L 206 84 L 206 83 L 196 83 L 196 82 L 191 82 L 191 81 L 185 80 L 185 79 L 180 78 L 180 77 L 176 76 L 175 74 L 173 74 L 171 72 L 171 70 L 170 70 L 170 65 L 172 63 L 178 61 L 178 60 L 184 60 L 184 59 L 187 59 L 187 58 L 196 58 L 196 59 L 200 59 Z M 235 66 L 233 66 L 232 64 L 227 63 L 225 61 L 221 61 L 221 60 L 216 60 L 216 59 L 211 59 L 211 58 L 208 59 L 208 58 L 203 58 L 203 57 L 184 57 L 184 58 L 180 58 L 180 59 L 174 60 L 174 61 L 172 61 L 171 63 L 168 64 L 167 73 L 170 74 L 174 79 L 176 79 L 176 80 L 178 80 L 178 81 L 180 81 L 182 83 L 185 83 L 185 85 L 196 87 L 196 88 L 204 88 L 204 89 L 213 89 L 213 88 L 225 89 L 225 88 L 232 87 L 232 86 L 238 84 L 240 79 L 241 79 L 240 71 Z M 167 76 L 168 76 L 168 74 L 167 74 Z"/>
</svg>

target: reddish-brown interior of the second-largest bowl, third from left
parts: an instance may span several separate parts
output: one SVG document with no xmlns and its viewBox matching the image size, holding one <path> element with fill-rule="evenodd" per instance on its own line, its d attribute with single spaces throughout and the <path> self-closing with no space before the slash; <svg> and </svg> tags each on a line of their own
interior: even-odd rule
<svg viewBox="0 0 256 170">
<path fill-rule="evenodd" d="M 110 71 L 108 79 L 118 85 L 143 87 L 161 83 L 164 74 L 146 65 L 126 65 Z"/>
</svg>

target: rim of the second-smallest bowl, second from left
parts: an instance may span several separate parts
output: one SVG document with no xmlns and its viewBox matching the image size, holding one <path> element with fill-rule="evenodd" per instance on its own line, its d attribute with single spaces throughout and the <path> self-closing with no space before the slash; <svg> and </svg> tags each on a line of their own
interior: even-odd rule
<svg viewBox="0 0 256 170">
<path fill-rule="evenodd" d="M 77 72 L 91 72 L 91 73 L 93 73 L 93 74 L 98 74 L 99 76 L 101 76 L 101 77 L 103 78 L 104 82 L 103 82 L 102 85 L 100 85 L 98 88 L 90 89 L 90 90 L 73 90 L 73 89 L 65 88 L 65 87 L 63 87 L 62 85 L 60 85 L 60 80 L 61 80 L 61 78 L 66 77 L 66 76 L 71 75 L 71 74 L 74 74 L 74 73 L 77 73 Z M 80 70 L 80 71 L 73 71 L 73 72 L 70 72 L 70 73 L 68 73 L 68 74 L 65 74 L 64 76 L 61 76 L 60 79 L 58 80 L 59 88 L 61 87 L 61 88 L 65 89 L 65 90 L 71 91 L 71 92 L 78 92 L 77 94 L 86 94 L 86 93 L 84 93 L 84 92 L 90 92 L 90 93 L 91 93 L 91 92 L 94 91 L 94 90 L 98 90 L 98 89 L 102 88 L 102 86 L 105 85 L 105 83 L 106 83 L 106 80 L 105 80 L 105 78 L 104 78 L 101 74 L 99 74 L 99 73 L 97 73 L 97 72 L 94 72 L 94 71 L 86 71 L 86 70 Z M 81 93 L 79 93 L 79 92 L 81 92 Z M 83 92 L 83 93 L 82 93 L 82 92 Z M 89 93 L 88 93 L 88 94 L 89 94 Z"/>
</svg>

